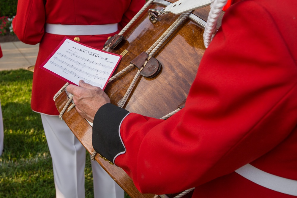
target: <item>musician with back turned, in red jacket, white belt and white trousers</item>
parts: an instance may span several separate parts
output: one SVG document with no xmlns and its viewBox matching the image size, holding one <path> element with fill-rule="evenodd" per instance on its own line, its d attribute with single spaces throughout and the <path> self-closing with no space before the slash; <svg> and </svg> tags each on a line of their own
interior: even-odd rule
<svg viewBox="0 0 297 198">
<path fill-rule="evenodd" d="M 57 197 L 85 197 L 84 167 L 86 150 L 59 120 L 53 96 L 66 82 L 39 66 L 67 36 L 102 49 L 109 36 L 117 34 L 143 7 L 145 0 L 19 0 L 12 21 L 18 38 L 39 45 L 34 68 L 32 110 L 41 113 L 53 160 Z M 123 197 L 124 192 L 110 176 L 92 161 L 95 197 Z"/>
</svg>

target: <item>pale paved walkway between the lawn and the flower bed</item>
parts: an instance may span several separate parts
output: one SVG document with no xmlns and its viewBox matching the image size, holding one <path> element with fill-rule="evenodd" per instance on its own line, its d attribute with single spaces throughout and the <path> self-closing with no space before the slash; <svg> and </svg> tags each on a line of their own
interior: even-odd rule
<svg viewBox="0 0 297 198">
<path fill-rule="evenodd" d="M 27 69 L 35 65 L 39 44 L 28 45 L 21 41 L 0 43 L 3 56 L 0 58 L 0 71 Z"/>
</svg>

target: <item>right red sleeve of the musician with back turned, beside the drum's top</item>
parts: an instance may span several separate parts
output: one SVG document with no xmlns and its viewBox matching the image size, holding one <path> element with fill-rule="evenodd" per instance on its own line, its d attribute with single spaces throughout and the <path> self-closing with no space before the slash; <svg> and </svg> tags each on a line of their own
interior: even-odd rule
<svg viewBox="0 0 297 198">
<path fill-rule="evenodd" d="M 123 29 L 129 21 L 137 14 L 137 12 L 144 6 L 145 0 L 131 0 L 128 9 L 124 13 L 121 22 L 119 23 L 119 29 Z"/>
</svg>

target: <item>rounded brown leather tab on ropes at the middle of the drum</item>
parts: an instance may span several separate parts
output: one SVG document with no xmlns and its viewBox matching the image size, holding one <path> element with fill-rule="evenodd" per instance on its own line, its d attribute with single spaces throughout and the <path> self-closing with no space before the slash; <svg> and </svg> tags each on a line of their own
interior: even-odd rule
<svg viewBox="0 0 297 198">
<path fill-rule="evenodd" d="M 142 76 L 148 78 L 155 77 L 162 68 L 161 63 L 156 58 L 149 56 L 145 52 L 139 54 L 130 63 L 134 64 L 140 70 Z"/>
</svg>

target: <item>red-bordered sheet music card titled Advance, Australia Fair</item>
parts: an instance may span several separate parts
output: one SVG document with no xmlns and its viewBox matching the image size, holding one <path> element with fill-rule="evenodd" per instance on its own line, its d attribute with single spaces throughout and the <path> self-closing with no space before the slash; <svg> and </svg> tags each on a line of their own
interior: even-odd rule
<svg viewBox="0 0 297 198">
<path fill-rule="evenodd" d="M 40 67 L 68 83 L 84 80 L 104 90 L 121 57 L 65 37 Z"/>
</svg>

